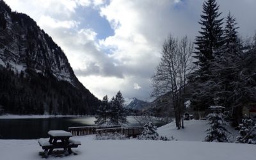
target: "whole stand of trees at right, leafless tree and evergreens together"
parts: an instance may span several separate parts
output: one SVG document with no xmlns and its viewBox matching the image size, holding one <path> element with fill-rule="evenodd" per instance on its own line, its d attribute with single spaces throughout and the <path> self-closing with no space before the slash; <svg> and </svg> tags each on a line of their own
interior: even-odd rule
<svg viewBox="0 0 256 160">
<path fill-rule="evenodd" d="M 221 18 L 219 7 L 215 0 L 204 1 L 194 44 L 186 37 L 167 38 L 152 76 L 152 95 L 170 93 L 178 129 L 188 98 L 195 113 L 204 115 L 219 99 L 234 125 L 241 122 L 243 107 L 256 102 L 256 35 L 239 38 L 236 18 L 230 12 Z"/>
</svg>

